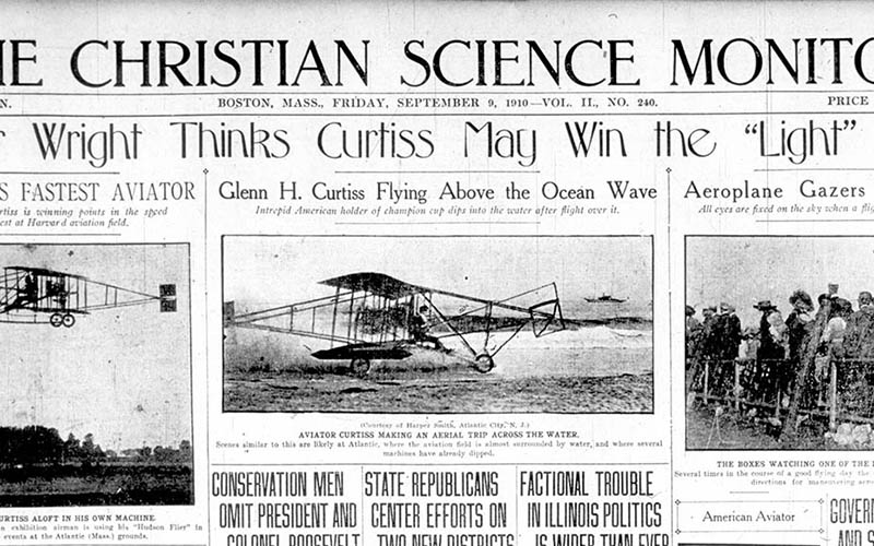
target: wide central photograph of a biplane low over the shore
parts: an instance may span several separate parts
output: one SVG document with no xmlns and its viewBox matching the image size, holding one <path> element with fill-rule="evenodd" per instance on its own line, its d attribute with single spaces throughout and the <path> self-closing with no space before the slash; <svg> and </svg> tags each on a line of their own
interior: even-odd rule
<svg viewBox="0 0 874 546">
<path fill-rule="evenodd" d="M 224 410 L 650 413 L 651 249 L 226 236 Z"/>
</svg>

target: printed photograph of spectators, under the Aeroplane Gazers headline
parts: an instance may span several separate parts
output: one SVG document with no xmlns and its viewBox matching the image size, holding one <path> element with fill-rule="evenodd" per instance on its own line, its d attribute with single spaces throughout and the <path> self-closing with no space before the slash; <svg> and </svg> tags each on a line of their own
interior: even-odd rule
<svg viewBox="0 0 874 546">
<path fill-rule="evenodd" d="M 874 237 L 686 237 L 686 448 L 871 449 Z"/>
</svg>

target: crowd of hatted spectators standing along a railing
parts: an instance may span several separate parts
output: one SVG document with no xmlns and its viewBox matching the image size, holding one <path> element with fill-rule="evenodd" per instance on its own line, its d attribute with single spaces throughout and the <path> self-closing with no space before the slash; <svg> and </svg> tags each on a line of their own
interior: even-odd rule
<svg viewBox="0 0 874 546">
<path fill-rule="evenodd" d="M 779 408 L 789 404 L 805 369 L 808 375 L 801 394 L 802 403 L 810 406 L 827 403 L 832 364 L 841 369 L 845 382 L 874 380 L 869 372 L 869 368 L 874 371 L 874 298 L 870 292 L 859 294 L 858 309 L 834 293 L 822 294 L 816 307 L 801 289 L 788 301 L 791 310 L 786 317 L 770 300 L 758 301 L 753 306 L 761 313 L 758 323 L 746 327 L 730 304 L 705 307 L 700 320 L 696 309 L 686 306 L 689 388 L 700 391 L 708 369 L 710 392 L 724 394 L 740 388 L 743 392 L 737 394 L 746 400 Z M 740 381 L 735 381 L 735 367 Z"/>
</svg>

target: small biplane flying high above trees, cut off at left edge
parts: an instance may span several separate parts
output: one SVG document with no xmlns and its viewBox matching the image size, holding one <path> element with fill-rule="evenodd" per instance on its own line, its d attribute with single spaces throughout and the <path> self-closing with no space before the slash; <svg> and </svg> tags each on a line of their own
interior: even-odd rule
<svg viewBox="0 0 874 546">
<path fill-rule="evenodd" d="M 82 275 L 42 268 L 3 268 L 0 278 L 0 322 L 72 328 L 76 317 L 101 309 L 158 302 L 161 312 L 176 311 L 176 285 L 162 284 L 158 294 L 122 288 Z"/>
</svg>

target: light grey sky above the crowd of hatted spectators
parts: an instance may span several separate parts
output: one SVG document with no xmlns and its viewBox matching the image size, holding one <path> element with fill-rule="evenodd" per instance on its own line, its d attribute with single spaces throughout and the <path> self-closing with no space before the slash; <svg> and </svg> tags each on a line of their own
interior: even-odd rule
<svg viewBox="0 0 874 546">
<path fill-rule="evenodd" d="M 704 305 L 733 304 L 744 324 L 753 305 L 770 299 L 783 316 L 789 296 L 804 289 L 816 301 L 828 285 L 859 308 L 861 290 L 874 293 L 874 237 L 687 237 L 686 302 L 700 318 Z"/>
</svg>

